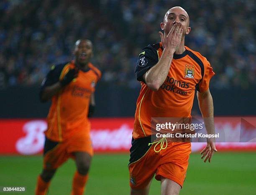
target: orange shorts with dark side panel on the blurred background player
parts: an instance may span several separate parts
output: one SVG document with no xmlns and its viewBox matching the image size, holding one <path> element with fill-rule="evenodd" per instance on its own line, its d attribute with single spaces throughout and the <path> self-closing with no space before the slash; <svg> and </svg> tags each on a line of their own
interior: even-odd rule
<svg viewBox="0 0 256 195">
<path fill-rule="evenodd" d="M 52 170 L 60 167 L 73 152 L 87 152 L 93 156 L 90 134 L 73 134 L 63 142 L 54 142 L 46 137 L 44 145 L 44 169 Z"/>
</svg>

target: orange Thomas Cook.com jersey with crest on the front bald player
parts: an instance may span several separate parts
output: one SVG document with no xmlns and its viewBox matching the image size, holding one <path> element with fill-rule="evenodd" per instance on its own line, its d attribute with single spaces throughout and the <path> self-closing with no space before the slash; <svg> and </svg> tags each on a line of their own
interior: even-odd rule
<svg viewBox="0 0 256 195">
<path fill-rule="evenodd" d="M 161 43 L 149 45 L 139 54 L 135 69 L 141 91 L 136 103 L 133 138 L 151 135 L 151 117 L 190 117 L 195 89 L 204 92 L 215 74 L 207 59 L 185 46 L 182 54 L 174 54 L 166 80 L 158 91 L 148 88 L 143 74 L 161 58 Z"/>
</svg>

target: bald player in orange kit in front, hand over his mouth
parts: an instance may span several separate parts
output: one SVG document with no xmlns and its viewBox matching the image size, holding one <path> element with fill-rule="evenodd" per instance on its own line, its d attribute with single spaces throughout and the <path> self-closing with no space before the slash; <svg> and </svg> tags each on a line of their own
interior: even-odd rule
<svg viewBox="0 0 256 195">
<path fill-rule="evenodd" d="M 139 54 L 135 69 L 141 91 L 136 103 L 132 147 L 130 149 L 131 195 L 148 195 L 155 175 L 161 181 L 162 195 L 177 195 L 185 180 L 190 142 L 168 142 L 166 149 L 151 142 L 151 117 L 191 117 L 197 99 L 207 132 L 214 132 L 213 102 L 209 82 L 215 74 L 200 53 L 184 46 L 188 35 L 189 15 L 181 7 L 167 11 L 159 32 L 161 43 L 148 45 Z M 215 140 L 208 139 L 202 158 L 211 160 Z"/>
</svg>

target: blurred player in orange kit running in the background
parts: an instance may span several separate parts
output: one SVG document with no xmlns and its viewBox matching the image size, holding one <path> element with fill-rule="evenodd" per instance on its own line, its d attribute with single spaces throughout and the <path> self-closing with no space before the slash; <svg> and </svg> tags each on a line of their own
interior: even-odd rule
<svg viewBox="0 0 256 195">
<path fill-rule="evenodd" d="M 90 122 L 95 107 L 95 84 L 100 71 L 90 63 L 92 43 L 75 43 L 74 61 L 53 66 L 44 79 L 41 101 L 52 101 L 45 132 L 44 167 L 38 176 L 36 195 L 46 194 L 56 169 L 69 157 L 75 160 L 72 195 L 82 195 L 93 155 Z"/>
</svg>

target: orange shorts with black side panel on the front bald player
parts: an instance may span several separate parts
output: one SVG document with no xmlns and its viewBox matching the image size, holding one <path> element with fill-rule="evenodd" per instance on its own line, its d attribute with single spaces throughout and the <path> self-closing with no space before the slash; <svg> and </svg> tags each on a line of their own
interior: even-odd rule
<svg viewBox="0 0 256 195">
<path fill-rule="evenodd" d="M 132 144 L 130 149 L 131 158 L 128 168 L 131 188 L 143 189 L 148 185 L 154 175 L 158 181 L 161 180 L 161 177 L 165 177 L 177 182 L 182 187 L 186 177 L 189 154 L 191 153 L 191 143 L 168 142 L 167 148 L 161 149 L 160 152 L 154 151 L 155 144 L 153 144 L 147 151 L 145 149 L 143 151 L 143 145 L 148 144 L 147 141 L 144 139 L 141 143 L 137 142 L 136 144 L 138 146 L 135 147 Z M 132 142 L 134 142 L 134 139 Z M 160 149 L 160 145 L 158 144 L 156 146 L 156 151 Z M 137 160 L 133 156 L 137 156 L 137 158 L 141 157 Z"/>
</svg>

